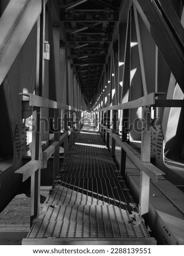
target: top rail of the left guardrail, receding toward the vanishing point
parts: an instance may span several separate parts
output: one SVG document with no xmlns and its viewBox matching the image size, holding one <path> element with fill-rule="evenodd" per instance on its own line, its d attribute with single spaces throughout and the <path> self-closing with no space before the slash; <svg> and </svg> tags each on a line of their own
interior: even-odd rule
<svg viewBox="0 0 184 256">
<path fill-rule="evenodd" d="M 81 109 L 77 109 L 75 107 L 72 107 L 57 101 L 49 100 L 45 97 L 41 97 L 32 93 L 20 93 L 20 95 L 29 97 L 29 106 L 66 109 L 66 110 L 71 110 L 75 112 L 82 112 Z"/>
</svg>

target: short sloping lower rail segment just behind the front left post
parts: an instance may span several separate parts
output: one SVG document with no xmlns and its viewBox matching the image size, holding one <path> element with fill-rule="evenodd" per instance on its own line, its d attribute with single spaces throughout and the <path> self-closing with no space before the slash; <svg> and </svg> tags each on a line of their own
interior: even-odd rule
<svg viewBox="0 0 184 256">
<path fill-rule="evenodd" d="M 50 159 L 54 151 L 59 148 L 60 144 L 62 144 L 67 137 L 68 132 L 64 132 L 64 134 L 60 136 L 59 141 L 53 142 L 46 150 L 44 150 L 42 153 L 43 168 L 47 168 L 48 159 Z"/>
</svg>

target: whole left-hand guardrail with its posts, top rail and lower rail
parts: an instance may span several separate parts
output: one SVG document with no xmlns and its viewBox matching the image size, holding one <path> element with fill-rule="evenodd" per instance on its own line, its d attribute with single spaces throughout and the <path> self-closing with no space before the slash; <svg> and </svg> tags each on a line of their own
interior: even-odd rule
<svg viewBox="0 0 184 256">
<path fill-rule="evenodd" d="M 73 113 L 82 113 L 81 109 L 52 101 L 38 95 L 29 93 L 20 93 L 23 96 L 24 102 L 29 102 L 32 107 L 34 120 L 34 129 L 32 130 L 32 158 L 21 168 L 16 170 L 16 173 L 22 174 L 22 181 L 31 178 L 31 196 L 30 196 L 30 215 L 31 223 L 39 214 L 40 208 L 40 175 L 41 169 L 47 168 L 47 161 L 53 155 L 53 180 L 59 173 L 59 147 L 64 143 L 64 159 L 68 155 L 68 150 L 73 144 Z M 41 152 L 41 111 L 42 108 L 54 109 L 54 141 Z M 64 133 L 61 135 L 60 111 L 64 111 Z M 30 112 L 30 109 L 29 109 Z M 78 114 L 81 119 L 81 114 Z M 68 121 L 70 122 L 70 132 L 68 132 Z M 79 129 L 81 123 L 79 122 Z"/>
</svg>

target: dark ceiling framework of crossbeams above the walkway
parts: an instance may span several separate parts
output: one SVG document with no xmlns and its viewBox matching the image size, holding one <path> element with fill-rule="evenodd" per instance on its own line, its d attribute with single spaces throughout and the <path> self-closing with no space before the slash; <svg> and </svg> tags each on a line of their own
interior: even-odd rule
<svg viewBox="0 0 184 256">
<path fill-rule="evenodd" d="M 106 64 L 121 0 L 60 0 L 60 20 L 82 94 L 93 105 Z"/>
</svg>

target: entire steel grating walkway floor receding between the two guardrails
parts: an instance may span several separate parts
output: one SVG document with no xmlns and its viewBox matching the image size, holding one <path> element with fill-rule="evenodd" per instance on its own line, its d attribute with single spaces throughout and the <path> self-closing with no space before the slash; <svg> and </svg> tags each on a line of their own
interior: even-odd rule
<svg viewBox="0 0 184 256">
<path fill-rule="evenodd" d="M 154 245 L 96 128 L 84 124 L 22 245 Z"/>
</svg>

